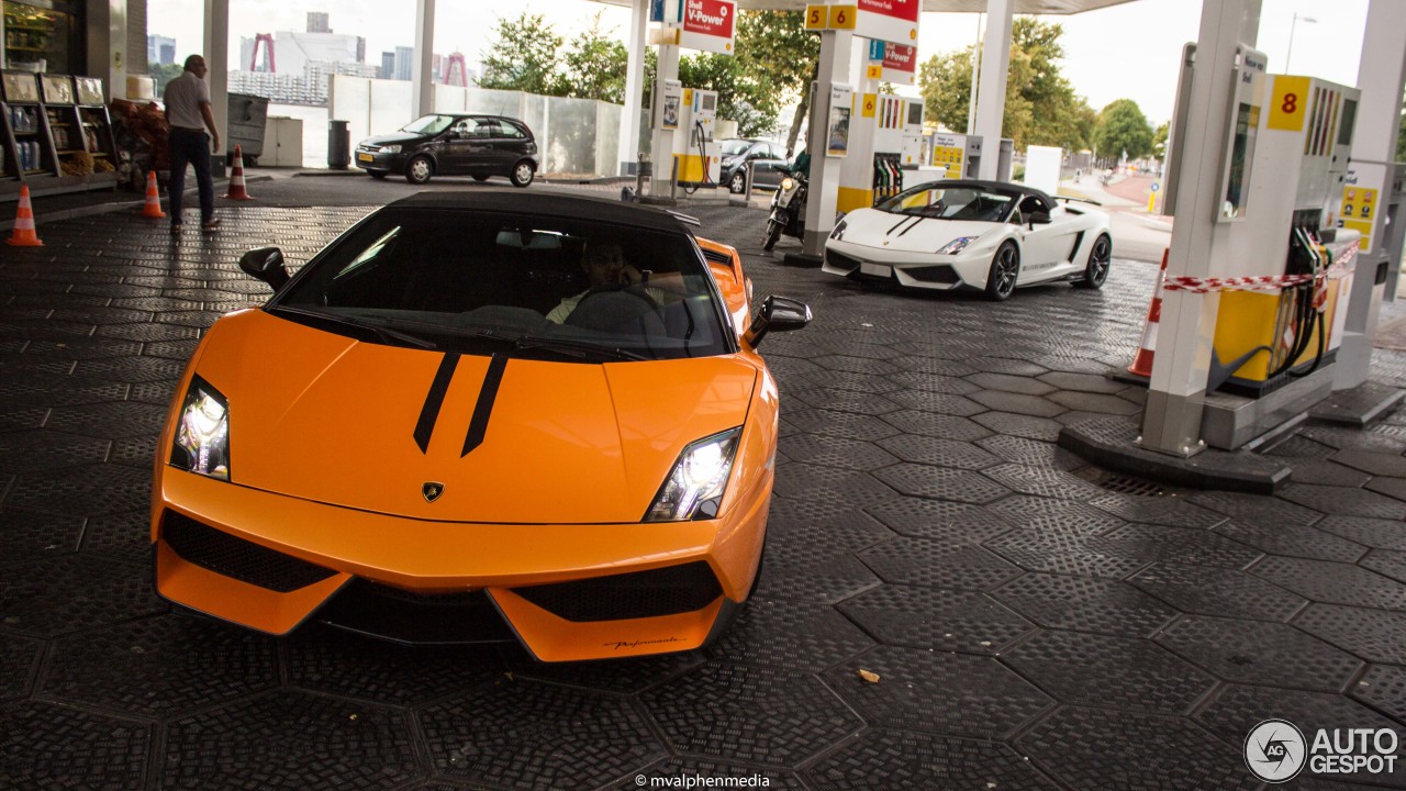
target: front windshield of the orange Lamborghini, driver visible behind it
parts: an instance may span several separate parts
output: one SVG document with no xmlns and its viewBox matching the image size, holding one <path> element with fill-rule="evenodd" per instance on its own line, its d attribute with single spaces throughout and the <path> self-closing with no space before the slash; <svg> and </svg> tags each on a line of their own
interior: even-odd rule
<svg viewBox="0 0 1406 791">
<path fill-rule="evenodd" d="M 688 234 L 578 218 L 382 210 L 270 311 L 370 343 L 576 363 L 733 350 Z"/>
</svg>

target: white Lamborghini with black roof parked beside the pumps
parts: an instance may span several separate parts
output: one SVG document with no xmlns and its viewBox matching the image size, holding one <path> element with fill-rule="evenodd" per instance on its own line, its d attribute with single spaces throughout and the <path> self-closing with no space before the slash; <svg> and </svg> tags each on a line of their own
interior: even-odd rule
<svg viewBox="0 0 1406 791">
<path fill-rule="evenodd" d="M 1004 300 L 1032 283 L 1098 289 L 1112 251 L 1108 215 L 1092 204 L 1057 204 L 1025 184 L 943 180 L 846 214 L 825 241 L 823 269 Z"/>
</svg>

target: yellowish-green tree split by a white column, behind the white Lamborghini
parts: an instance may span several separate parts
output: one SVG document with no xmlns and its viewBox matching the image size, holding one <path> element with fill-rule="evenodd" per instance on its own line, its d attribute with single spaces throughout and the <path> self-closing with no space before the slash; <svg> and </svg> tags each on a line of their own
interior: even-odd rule
<svg viewBox="0 0 1406 791">
<path fill-rule="evenodd" d="M 1018 149 L 1054 145 L 1070 151 L 1088 148 L 1094 111 L 1060 73 L 1063 25 L 1036 17 L 1017 17 L 1011 28 L 1011 63 L 1005 77 L 1002 137 Z M 966 131 L 972 103 L 972 56 L 976 46 L 934 55 L 918 65 L 918 86 L 927 117 L 943 127 Z"/>
</svg>

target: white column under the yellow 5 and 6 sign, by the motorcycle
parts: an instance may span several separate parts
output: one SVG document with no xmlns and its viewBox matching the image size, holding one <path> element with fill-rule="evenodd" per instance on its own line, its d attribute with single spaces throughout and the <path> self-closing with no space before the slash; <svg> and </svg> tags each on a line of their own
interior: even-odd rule
<svg viewBox="0 0 1406 791">
<path fill-rule="evenodd" d="M 806 238 L 801 255 L 818 259 L 825 251 L 825 239 L 835 227 L 835 207 L 839 198 L 839 165 L 844 159 L 825 156 L 825 131 L 830 128 L 830 86 L 849 82 L 855 34 L 848 30 L 820 32 L 820 69 L 815 96 L 810 103 L 810 132 L 806 151 L 810 152 L 810 187 L 806 198 Z M 851 124 L 855 118 L 851 117 Z"/>
</svg>

